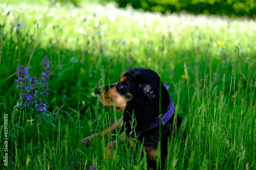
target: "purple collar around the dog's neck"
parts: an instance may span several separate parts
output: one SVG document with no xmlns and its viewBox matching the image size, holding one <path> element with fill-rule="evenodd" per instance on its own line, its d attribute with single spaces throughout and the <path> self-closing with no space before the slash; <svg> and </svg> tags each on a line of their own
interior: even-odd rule
<svg viewBox="0 0 256 170">
<path fill-rule="evenodd" d="M 141 135 L 141 133 L 148 131 L 150 129 L 156 128 L 159 126 L 159 119 L 161 122 L 161 125 L 164 125 L 173 115 L 175 112 L 175 108 L 174 108 L 174 102 L 172 100 L 172 98 L 170 98 L 170 107 L 169 109 L 162 114 L 160 117 L 158 117 L 154 122 L 152 122 L 146 129 L 143 130 L 137 130 L 137 135 Z"/>
</svg>

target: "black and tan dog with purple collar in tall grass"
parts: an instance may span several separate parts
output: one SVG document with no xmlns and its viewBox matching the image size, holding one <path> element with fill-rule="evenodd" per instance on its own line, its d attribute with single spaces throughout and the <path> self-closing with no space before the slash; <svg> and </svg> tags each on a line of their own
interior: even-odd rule
<svg viewBox="0 0 256 170">
<path fill-rule="evenodd" d="M 98 88 L 97 91 L 103 105 L 115 107 L 118 112 L 123 112 L 123 116 L 104 132 L 86 137 L 83 142 L 88 143 L 95 136 L 106 136 L 122 128 L 126 136 L 143 142 L 148 169 L 157 168 L 157 148 L 158 142 L 161 142 L 163 169 L 168 155 L 168 138 L 177 133 L 181 119 L 178 114 L 174 118 L 174 102 L 158 74 L 148 68 L 132 68 L 125 71 L 118 82 Z M 133 119 L 135 125 L 132 125 Z M 106 154 L 111 154 L 116 144 L 116 141 L 108 143 Z"/>
</svg>

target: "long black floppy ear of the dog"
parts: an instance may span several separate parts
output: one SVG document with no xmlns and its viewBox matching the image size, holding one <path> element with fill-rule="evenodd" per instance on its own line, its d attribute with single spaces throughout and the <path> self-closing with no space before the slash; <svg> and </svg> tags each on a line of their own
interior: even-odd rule
<svg viewBox="0 0 256 170">
<path fill-rule="evenodd" d="M 159 84 L 161 88 L 159 88 Z M 161 112 L 165 111 L 168 105 L 169 94 L 162 82 L 139 84 L 132 99 L 127 102 L 125 107 L 124 122 L 126 125 L 130 124 L 132 114 L 134 114 L 137 120 L 136 129 L 141 130 L 152 123 Z"/>
</svg>

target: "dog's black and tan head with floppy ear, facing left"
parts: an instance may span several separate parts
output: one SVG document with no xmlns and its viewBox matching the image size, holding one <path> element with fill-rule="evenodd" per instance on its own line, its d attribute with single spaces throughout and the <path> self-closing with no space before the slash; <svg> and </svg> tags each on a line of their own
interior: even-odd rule
<svg viewBox="0 0 256 170">
<path fill-rule="evenodd" d="M 170 104 L 158 74 L 148 68 L 127 70 L 118 82 L 98 88 L 98 93 L 103 105 L 124 112 L 124 122 L 129 122 L 134 114 L 138 129 L 150 124 Z"/>
</svg>

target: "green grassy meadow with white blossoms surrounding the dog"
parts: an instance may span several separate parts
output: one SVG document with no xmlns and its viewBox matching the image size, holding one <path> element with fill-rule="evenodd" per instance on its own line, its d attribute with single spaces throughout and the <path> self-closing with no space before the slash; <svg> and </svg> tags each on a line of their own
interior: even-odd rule
<svg viewBox="0 0 256 170">
<path fill-rule="evenodd" d="M 168 82 L 183 119 L 186 138 L 170 139 L 166 169 L 255 169 L 254 21 L 31 3 L 0 5 L 1 169 L 145 169 L 142 148 L 127 148 L 118 132 L 88 146 L 80 141 L 121 116 L 102 107 L 96 89 L 133 67 Z M 46 55 L 47 111 L 38 117 L 33 105 L 17 106 L 14 80 L 22 64 L 42 83 Z M 104 147 L 114 138 L 118 148 L 106 161 Z"/>
</svg>

